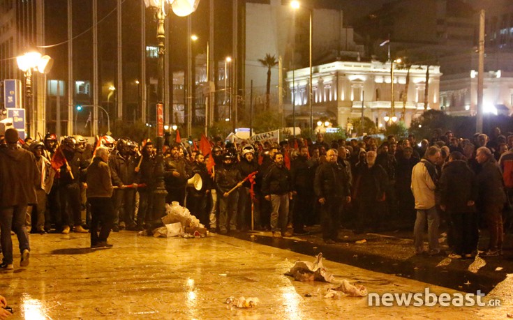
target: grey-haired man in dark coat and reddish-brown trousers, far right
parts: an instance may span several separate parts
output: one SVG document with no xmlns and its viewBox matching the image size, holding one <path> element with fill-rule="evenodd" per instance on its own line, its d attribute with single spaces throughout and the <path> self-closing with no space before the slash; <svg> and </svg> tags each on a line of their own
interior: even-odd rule
<svg viewBox="0 0 513 320">
<path fill-rule="evenodd" d="M 479 209 L 484 212 L 484 218 L 490 232 L 490 243 L 485 256 L 493 257 L 502 254 L 503 250 L 503 207 L 506 202 L 503 175 L 493 158 L 489 148 L 477 148 L 475 160 L 482 169 L 477 174 L 479 185 Z"/>
</svg>

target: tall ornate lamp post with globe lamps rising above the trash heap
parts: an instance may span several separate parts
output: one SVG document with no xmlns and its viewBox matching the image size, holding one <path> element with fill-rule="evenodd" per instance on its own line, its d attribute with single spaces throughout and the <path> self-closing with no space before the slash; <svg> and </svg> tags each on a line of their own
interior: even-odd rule
<svg viewBox="0 0 513 320">
<path fill-rule="evenodd" d="M 193 13 L 198 8 L 200 0 L 144 0 L 146 6 L 157 8 L 157 41 L 158 41 L 158 89 L 157 89 L 157 139 L 156 139 L 156 165 L 155 165 L 155 189 L 154 189 L 154 211 L 151 212 L 148 234 L 155 227 L 162 224 L 161 218 L 165 215 L 165 197 L 168 192 L 164 185 L 164 160 L 162 154 L 163 148 L 163 92 L 164 92 L 164 54 L 165 54 L 165 16 L 168 15 L 169 6 L 171 6 L 175 15 L 185 17 Z"/>
</svg>

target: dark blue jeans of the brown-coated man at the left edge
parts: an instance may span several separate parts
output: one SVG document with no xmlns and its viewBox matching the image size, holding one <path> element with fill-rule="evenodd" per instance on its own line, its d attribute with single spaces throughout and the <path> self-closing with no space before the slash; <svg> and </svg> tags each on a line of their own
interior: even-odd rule
<svg viewBox="0 0 513 320">
<path fill-rule="evenodd" d="M 3 252 L 3 263 L 13 263 L 13 241 L 10 238 L 11 228 L 15 231 L 20 243 L 20 253 L 25 249 L 30 250 L 29 234 L 24 227 L 26 215 L 27 206 L 0 208 L 0 243 Z"/>
</svg>

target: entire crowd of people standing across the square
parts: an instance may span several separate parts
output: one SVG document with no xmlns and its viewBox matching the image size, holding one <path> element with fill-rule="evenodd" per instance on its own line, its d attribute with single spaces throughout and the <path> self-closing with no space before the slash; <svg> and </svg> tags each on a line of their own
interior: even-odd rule
<svg viewBox="0 0 513 320">
<path fill-rule="evenodd" d="M 157 162 L 151 140 L 102 136 L 88 144 L 76 135 L 59 143 L 53 134 L 42 140 L 22 141 L 13 129 L 0 137 L 1 268 L 13 268 L 11 230 L 20 240 L 20 265 L 27 266 L 28 232 L 89 232 L 96 248 L 112 246 L 110 231 L 151 228 Z M 186 206 L 211 232 L 253 228 L 278 238 L 320 224 L 325 243 L 335 243 L 342 225 L 359 234 L 403 222 L 414 227 L 417 254 L 440 254 L 442 220 L 450 257 L 476 254 L 484 225 L 490 233 L 484 254 L 502 253 L 503 211 L 513 195 L 513 135 L 498 128 L 473 139 L 435 130 L 420 142 L 415 135 L 390 135 L 328 144 L 318 134 L 315 141 L 211 139 L 196 146 L 166 139 L 165 201 Z M 201 188 L 189 181 L 195 175 Z"/>
</svg>

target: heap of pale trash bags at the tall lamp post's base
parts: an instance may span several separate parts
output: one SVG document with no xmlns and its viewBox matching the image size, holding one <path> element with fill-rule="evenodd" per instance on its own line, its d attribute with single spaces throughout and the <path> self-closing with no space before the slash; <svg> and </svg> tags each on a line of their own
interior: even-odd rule
<svg viewBox="0 0 513 320">
<path fill-rule="evenodd" d="M 164 227 L 154 229 L 154 237 L 185 236 L 186 238 L 198 238 L 205 236 L 206 232 L 202 231 L 205 226 L 200 223 L 198 218 L 191 215 L 188 208 L 180 206 L 177 201 L 173 201 L 171 205 L 165 204 L 165 213 L 166 215 L 162 217 Z M 191 231 L 191 234 L 188 231 Z"/>
</svg>

